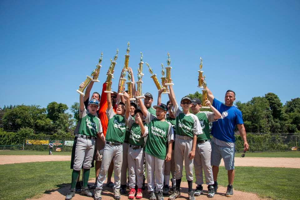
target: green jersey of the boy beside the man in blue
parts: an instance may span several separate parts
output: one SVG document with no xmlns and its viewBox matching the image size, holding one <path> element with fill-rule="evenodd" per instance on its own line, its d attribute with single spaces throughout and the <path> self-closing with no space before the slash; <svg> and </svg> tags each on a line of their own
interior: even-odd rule
<svg viewBox="0 0 300 200">
<path fill-rule="evenodd" d="M 210 139 L 209 133 L 209 122 L 217 121 L 214 119 L 214 114 L 208 111 L 202 111 L 195 114 L 200 122 L 202 132 L 205 134 L 197 135 L 197 140 L 208 140 Z"/>
</svg>

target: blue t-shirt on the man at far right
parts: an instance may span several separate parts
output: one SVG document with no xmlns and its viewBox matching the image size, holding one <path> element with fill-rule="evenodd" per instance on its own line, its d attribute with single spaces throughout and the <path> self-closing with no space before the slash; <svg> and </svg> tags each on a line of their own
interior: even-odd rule
<svg viewBox="0 0 300 200">
<path fill-rule="evenodd" d="M 212 136 L 225 142 L 234 143 L 234 128 L 237 124 L 244 123 L 242 112 L 235 106 L 225 106 L 216 98 L 213 99 L 212 106 L 222 114 L 218 121 L 212 123 Z"/>
</svg>

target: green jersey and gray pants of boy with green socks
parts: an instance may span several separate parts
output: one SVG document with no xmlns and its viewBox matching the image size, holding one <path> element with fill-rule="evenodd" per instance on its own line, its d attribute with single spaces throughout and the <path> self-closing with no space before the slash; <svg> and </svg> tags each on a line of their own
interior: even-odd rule
<svg viewBox="0 0 300 200">
<path fill-rule="evenodd" d="M 91 168 L 95 150 L 95 138 L 97 133 L 102 133 L 100 119 L 88 113 L 85 108 L 83 111 L 79 109 L 79 118 L 80 126 L 78 134 L 75 135 L 77 141 L 73 165 L 73 169 L 76 171 L 80 171 L 82 167 L 84 169 Z M 92 138 L 87 139 L 87 136 Z"/>
</svg>

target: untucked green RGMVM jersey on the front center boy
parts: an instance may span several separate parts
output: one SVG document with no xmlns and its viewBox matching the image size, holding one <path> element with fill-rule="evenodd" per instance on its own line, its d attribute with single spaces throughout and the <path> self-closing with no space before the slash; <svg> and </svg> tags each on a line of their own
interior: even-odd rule
<svg viewBox="0 0 300 200">
<path fill-rule="evenodd" d="M 145 121 L 148 125 L 148 138 L 145 145 L 145 153 L 164 160 L 167 153 L 167 143 L 174 141 L 172 124 L 168 121 L 158 120 L 150 112 L 147 112 Z"/>
</svg>

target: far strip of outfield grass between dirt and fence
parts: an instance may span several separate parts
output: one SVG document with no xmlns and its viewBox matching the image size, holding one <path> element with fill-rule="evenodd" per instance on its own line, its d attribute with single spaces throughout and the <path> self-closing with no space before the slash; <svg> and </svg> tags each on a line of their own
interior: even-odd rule
<svg viewBox="0 0 300 200">
<path fill-rule="evenodd" d="M 71 152 L 52 152 L 53 155 L 71 155 Z M 236 153 L 235 157 L 240 157 L 242 153 Z M 0 150 L 0 155 L 48 155 L 47 151 L 20 151 L 20 150 Z M 288 152 L 261 152 L 246 153 L 246 157 L 271 157 L 271 158 L 300 158 L 300 151 Z"/>
</svg>

